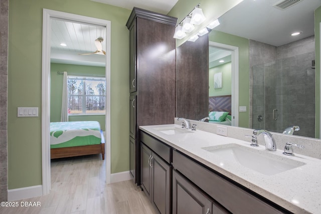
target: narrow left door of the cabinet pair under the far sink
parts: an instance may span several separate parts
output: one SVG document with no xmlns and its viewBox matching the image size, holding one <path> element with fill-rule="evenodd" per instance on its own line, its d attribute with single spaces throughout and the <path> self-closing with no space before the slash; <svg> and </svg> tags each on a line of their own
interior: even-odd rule
<svg viewBox="0 0 321 214">
<path fill-rule="evenodd" d="M 143 143 L 140 143 L 140 182 L 141 187 L 150 197 L 150 181 L 151 181 L 151 167 L 150 167 L 150 159 L 151 159 L 151 150 L 145 146 Z"/>
</svg>

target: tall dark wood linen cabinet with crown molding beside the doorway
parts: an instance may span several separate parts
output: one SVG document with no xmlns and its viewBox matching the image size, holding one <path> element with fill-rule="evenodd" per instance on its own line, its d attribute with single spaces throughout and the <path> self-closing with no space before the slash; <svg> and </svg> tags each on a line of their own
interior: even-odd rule
<svg viewBox="0 0 321 214">
<path fill-rule="evenodd" d="M 130 35 L 130 174 L 140 185 L 139 126 L 173 124 L 176 116 L 177 18 L 133 8 Z"/>
</svg>

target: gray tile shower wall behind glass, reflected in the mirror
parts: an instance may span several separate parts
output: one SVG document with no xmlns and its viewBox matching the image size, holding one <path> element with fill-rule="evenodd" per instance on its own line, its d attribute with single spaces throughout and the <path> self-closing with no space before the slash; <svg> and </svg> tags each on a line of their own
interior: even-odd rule
<svg viewBox="0 0 321 214">
<path fill-rule="evenodd" d="M 314 36 L 279 47 L 250 40 L 253 128 L 282 132 L 300 125 L 300 136 L 314 137 L 314 43 Z"/>
</svg>

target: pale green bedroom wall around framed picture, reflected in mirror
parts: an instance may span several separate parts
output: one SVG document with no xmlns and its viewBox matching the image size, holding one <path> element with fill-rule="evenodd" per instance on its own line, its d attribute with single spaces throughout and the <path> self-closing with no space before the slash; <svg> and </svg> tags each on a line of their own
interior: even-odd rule
<svg viewBox="0 0 321 214">
<path fill-rule="evenodd" d="M 214 88 L 214 74 L 222 72 L 222 88 Z M 209 96 L 231 95 L 232 63 L 225 63 L 209 69 Z"/>
</svg>

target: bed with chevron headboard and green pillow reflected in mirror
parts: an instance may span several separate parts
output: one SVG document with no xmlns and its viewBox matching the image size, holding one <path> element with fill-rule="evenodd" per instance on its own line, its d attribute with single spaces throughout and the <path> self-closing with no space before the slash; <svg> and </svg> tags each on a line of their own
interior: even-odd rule
<svg viewBox="0 0 321 214">
<path fill-rule="evenodd" d="M 232 96 L 209 97 L 209 123 L 232 125 Z"/>
</svg>

